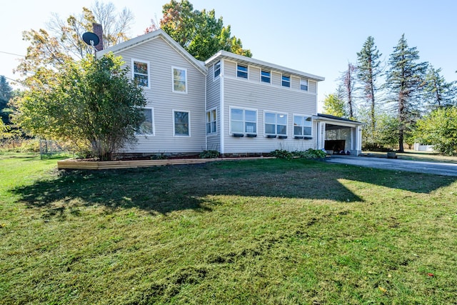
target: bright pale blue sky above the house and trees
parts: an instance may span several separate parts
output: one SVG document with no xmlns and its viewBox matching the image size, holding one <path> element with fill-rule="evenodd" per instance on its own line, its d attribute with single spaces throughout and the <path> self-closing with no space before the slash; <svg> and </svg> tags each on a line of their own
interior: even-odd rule
<svg viewBox="0 0 457 305">
<path fill-rule="evenodd" d="M 109 1 L 104 1 L 109 2 Z M 169 1 L 114 0 L 117 9 L 135 16 L 131 37 L 144 33 L 151 19 L 161 18 Z M 387 61 L 401 34 L 416 46 L 422 61 L 443 69 L 447 81 L 457 80 L 457 1 L 448 0 L 193 0 L 194 9 L 215 9 L 231 25 L 232 35 L 251 49 L 253 57 L 326 78 L 318 84 L 318 101 L 336 89 L 336 79 L 356 61 L 368 36 Z M 90 7 L 91 0 L 15 0 L 0 11 L 0 75 L 19 78 L 12 70 L 26 54 L 21 32 L 45 28 L 51 13 L 62 18 Z"/>
</svg>

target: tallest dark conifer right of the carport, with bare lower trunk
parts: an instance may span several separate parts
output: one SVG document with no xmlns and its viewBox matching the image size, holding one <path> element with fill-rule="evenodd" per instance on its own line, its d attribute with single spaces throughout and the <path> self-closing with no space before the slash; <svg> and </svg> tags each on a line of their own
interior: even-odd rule
<svg viewBox="0 0 457 305">
<path fill-rule="evenodd" d="M 418 59 L 416 47 L 410 48 L 403 34 L 388 60 L 386 87 L 393 94 L 393 101 L 396 101 L 398 151 L 401 152 L 404 150 L 404 135 L 418 118 L 419 100 L 425 85 L 428 64 L 418 62 Z"/>
</svg>

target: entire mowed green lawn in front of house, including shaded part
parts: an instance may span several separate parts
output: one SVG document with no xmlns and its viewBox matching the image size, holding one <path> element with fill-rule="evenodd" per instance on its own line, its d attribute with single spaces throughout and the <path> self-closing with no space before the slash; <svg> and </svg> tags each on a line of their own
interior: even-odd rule
<svg viewBox="0 0 457 305">
<path fill-rule="evenodd" d="M 455 177 L 0 154 L 2 304 L 456 304 Z"/>
</svg>

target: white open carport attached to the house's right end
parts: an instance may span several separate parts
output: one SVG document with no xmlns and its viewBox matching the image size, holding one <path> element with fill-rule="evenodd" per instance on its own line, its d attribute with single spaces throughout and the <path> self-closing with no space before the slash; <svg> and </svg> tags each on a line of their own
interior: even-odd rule
<svg viewBox="0 0 457 305">
<path fill-rule="evenodd" d="M 349 151 L 358 156 L 362 152 L 362 123 L 328 114 L 313 116 L 317 124 L 317 148 L 333 151 Z"/>
</svg>

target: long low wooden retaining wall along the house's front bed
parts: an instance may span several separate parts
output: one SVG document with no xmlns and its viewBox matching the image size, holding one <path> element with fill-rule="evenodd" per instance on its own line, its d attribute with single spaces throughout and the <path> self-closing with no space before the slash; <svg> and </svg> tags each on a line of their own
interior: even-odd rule
<svg viewBox="0 0 457 305">
<path fill-rule="evenodd" d="M 274 157 L 215 158 L 215 159 L 171 159 L 171 160 L 129 160 L 129 161 L 84 161 L 66 159 L 57 161 L 57 169 L 135 169 L 138 167 L 202 164 L 214 161 L 236 161 L 253 159 L 274 159 Z"/>
</svg>

